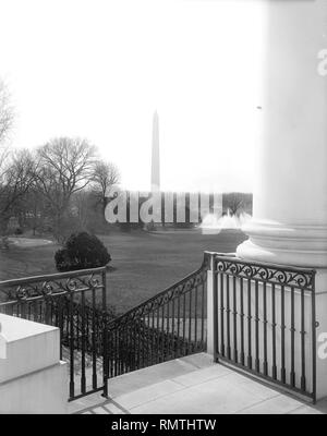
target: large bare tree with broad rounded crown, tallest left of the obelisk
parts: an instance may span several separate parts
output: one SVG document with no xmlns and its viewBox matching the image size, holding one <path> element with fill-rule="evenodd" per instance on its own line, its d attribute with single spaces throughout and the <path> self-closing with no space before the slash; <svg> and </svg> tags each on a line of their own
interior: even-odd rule
<svg viewBox="0 0 327 436">
<path fill-rule="evenodd" d="M 36 184 L 52 210 L 53 233 L 60 239 L 74 193 L 93 180 L 96 149 L 86 140 L 58 137 L 37 150 Z"/>
</svg>

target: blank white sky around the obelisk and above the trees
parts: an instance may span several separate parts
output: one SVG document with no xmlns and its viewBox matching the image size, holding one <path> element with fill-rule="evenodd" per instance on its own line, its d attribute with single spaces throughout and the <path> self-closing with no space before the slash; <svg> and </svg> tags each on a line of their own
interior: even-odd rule
<svg viewBox="0 0 327 436">
<path fill-rule="evenodd" d="M 252 0 L 0 0 L 12 143 L 85 136 L 148 190 L 157 109 L 162 189 L 251 191 L 259 25 Z"/>
</svg>

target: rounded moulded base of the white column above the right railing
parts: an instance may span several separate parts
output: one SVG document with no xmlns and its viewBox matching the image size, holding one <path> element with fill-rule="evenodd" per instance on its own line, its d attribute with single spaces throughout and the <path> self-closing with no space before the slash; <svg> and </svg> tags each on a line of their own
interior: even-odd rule
<svg viewBox="0 0 327 436">
<path fill-rule="evenodd" d="M 237 249 L 241 258 L 280 265 L 327 267 L 327 227 L 288 226 L 252 220 L 242 229 L 250 239 Z"/>
</svg>

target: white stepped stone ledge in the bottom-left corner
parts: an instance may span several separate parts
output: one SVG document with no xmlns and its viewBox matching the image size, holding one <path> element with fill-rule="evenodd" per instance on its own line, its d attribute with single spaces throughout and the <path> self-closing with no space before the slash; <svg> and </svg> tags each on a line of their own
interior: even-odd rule
<svg viewBox="0 0 327 436">
<path fill-rule="evenodd" d="M 65 413 L 57 327 L 0 314 L 0 413 Z"/>
</svg>

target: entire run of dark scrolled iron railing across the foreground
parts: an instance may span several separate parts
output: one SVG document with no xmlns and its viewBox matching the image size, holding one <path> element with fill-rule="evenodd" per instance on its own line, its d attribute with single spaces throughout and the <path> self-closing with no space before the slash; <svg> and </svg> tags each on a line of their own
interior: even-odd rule
<svg viewBox="0 0 327 436">
<path fill-rule="evenodd" d="M 106 268 L 2 281 L 0 312 L 59 327 L 70 399 L 107 396 L 111 377 L 206 351 L 208 325 L 216 361 L 316 398 L 314 269 L 206 253 L 197 270 L 119 317 Z"/>
</svg>

